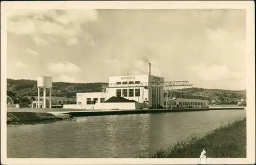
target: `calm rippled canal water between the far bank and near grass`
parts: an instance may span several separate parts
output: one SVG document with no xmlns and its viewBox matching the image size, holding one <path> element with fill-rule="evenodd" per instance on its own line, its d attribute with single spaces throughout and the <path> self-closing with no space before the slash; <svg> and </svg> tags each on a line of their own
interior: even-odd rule
<svg viewBox="0 0 256 165">
<path fill-rule="evenodd" d="M 7 156 L 36 158 L 137 157 L 191 133 L 199 136 L 246 116 L 246 111 L 81 117 L 36 125 L 8 125 Z"/>
</svg>

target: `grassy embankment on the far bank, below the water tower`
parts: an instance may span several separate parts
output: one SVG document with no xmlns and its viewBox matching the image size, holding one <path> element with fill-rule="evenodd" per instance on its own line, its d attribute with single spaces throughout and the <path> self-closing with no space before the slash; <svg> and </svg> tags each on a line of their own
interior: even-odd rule
<svg viewBox="0 0 256 165">
<path fill-rule="evenodd" d="M 50 113 L 35 113 L 35 112 L 7 112 L 7 123 L 18 122 L 42 122 L 72 119 L 71 115 L 60 114 L 53 115 Z"/>
</svg>

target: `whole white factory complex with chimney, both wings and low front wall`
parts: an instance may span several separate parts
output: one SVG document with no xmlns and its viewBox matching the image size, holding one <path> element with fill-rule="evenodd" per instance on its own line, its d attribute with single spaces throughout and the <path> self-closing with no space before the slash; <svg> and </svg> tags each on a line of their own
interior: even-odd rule
<svg viewBox="0 0 256 165">
<path fill-rule="evenodd" d="M 77 93 L 76 105 L 63 105 L 63 108 L 78 109 L 141 109 L 168 107 L 208 106 L 208 98 L 176 94 L 175 98 L 166 97 L 164 87 L 191 86 L 188 81 L 168 81 L 151 75 L 151 64 L 148 74 L 109 77 L 108 87 L 102 92 Z M 124 98 L 131 102 L 108 102 L 112 97 Z M 167 104 L 166 104 L 167 102 Z"/>
</svg>

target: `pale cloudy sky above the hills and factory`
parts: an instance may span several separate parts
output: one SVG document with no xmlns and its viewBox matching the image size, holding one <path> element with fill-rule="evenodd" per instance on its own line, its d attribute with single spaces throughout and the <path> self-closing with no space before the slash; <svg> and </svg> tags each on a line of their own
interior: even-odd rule
<svg viewBox="0 0 256 165">
<path fill-rule="evenodd" d="M 13 10 L 7 76 L 107 82 L 147 74 L 194 87 L 246 88 L 246 11 Z"/>
</svg>

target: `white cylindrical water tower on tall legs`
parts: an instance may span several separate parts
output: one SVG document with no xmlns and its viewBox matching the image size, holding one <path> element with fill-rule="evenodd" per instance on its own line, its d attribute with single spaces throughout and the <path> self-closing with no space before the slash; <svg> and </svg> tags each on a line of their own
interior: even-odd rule
<svg viewBox="0 0 256 165">
<path fill-rule="evenodd" d="M 37 77 L 37 89 L 38 89 L 38 108 L 40 107 L 40 89 L 44 89 L 44 103 L 42 108 L 46 108 L 46 89 L 49 89 L 49 107 L 52 107 L 52 77 L 39 76 Z"/>
</svg>

